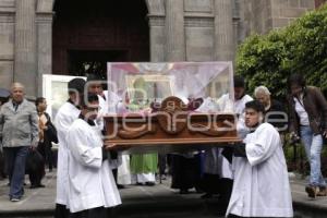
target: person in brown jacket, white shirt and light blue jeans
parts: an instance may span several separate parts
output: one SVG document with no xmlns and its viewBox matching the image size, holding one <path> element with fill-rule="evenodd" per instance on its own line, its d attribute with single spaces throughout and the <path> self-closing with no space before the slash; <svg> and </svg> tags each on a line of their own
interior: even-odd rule
<svg viewBox="0 0 327 218">
<path fill-rule="evenodd" d="M 311 168 L 305 191 L 313 198 L 326 196 L 320 154 L 323 137 L 327 137 L 327 101 L 317 87 L 306 86 L 302 74 L 292 74 L 288 80 L 288 88 L 291 136 L 301 136 Z"/>
</svg>

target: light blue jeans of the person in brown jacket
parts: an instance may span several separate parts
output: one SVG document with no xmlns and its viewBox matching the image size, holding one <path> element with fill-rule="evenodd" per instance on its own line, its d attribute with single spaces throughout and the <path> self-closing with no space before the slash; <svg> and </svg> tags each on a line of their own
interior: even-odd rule
<svg viewBox="0 0 327 218">
<path fill-rule="evenodd" d="M 326 181 L 320 170 L 320 154 L 323 148 L 322 134 L 314 135 L 308 125 L 301 126 L 301 140 L 304 144 L 305 154 L 310 161 L 310 184 L 314 186 L 326 186 Z"/>
</svg>

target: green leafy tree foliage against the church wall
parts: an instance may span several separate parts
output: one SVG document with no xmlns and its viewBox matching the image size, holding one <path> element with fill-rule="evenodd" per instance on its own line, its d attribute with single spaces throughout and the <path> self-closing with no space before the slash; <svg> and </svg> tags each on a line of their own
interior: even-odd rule
<svg viewBox="0 0 327 218">
<path fill-rule="evenodd" d="M 252 35 L 239 47 L 237 74 L 245 77 L 250 92 L 265 85 L 283 99 L 292 73 L 302 73 L 308 85 L 327 94 L 327 4 L 284 28 Z"/>
</svg>

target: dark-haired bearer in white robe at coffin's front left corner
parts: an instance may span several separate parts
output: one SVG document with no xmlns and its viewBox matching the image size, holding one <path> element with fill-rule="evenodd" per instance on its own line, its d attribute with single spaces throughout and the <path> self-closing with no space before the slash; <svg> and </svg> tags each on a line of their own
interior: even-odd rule
<svg viewBox="0 0 327 218">
<path fill-rule="evenodd" d="M 81 98 L 81 113 L 68 132 L 69 205 L 72 218 L 106 218 L 108 209 L 121 204 L 102 138 L 94 122 L 98 96 Z"/>
</svg>

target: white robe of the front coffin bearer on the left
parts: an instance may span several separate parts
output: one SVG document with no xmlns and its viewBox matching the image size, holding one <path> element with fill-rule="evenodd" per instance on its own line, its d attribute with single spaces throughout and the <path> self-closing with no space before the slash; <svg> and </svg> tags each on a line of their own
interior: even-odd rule
<svg viewBox="0 0 327 218">
<path fill-rule="evenodd" d="M 68 132 L 66 142 L 70 211 L 120 205 L 109 162 L 102 161 L 102 140 L 97 128 L 77 119 Z"/>
</svg>

